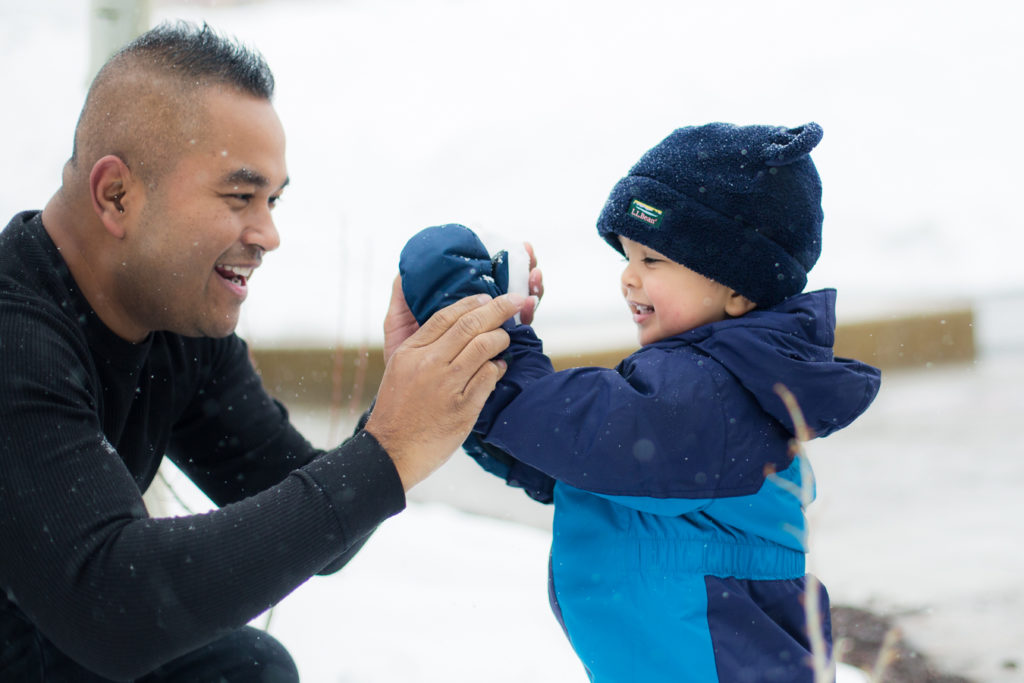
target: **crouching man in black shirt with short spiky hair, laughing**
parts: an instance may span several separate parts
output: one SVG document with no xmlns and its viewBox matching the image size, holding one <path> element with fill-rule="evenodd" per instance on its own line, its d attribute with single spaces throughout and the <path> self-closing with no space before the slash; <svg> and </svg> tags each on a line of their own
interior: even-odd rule
<svg viewBox="0 0 1024 683">
<path fill-rule="evenodd" d="M 148 32 L 93 82 L 59 190 L 0 232 L 0 679 L 296 680 L 245 625 L 404 507 L 532 315 L 471 298 L 417 330 L 396 287 L 373 412 L 314 451 L 233 335 L 279 244 L 272 91 L 206 27 Z M 147 515 L 165 454 L 219 509 Z"/>
</svg>

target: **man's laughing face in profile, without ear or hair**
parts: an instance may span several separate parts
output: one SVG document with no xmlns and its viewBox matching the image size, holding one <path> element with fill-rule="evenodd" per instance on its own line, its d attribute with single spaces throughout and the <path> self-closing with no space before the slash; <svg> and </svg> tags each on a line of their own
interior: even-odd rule
<svg viewBox="0 0 1024 683">
<path fill-rule="evenodd" d="M 233 332 L 249 278 L 276 249 L 271 217 L 288 183 L 272 105 L 211 89 L 197 138 L 146 189 L 129 229 L 116 296 L 144 332 Z"/>
</svg>

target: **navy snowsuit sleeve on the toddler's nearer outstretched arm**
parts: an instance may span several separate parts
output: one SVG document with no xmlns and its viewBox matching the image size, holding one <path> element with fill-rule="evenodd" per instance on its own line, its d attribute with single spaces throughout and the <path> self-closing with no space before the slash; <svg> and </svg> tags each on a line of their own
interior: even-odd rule
<svg viewBox="0 0 1024 683">
<path fill-rule="evenodd" d="M 658 348 L 615 370 L 555 373 L 505 405 L 482 438 L 573 487 L 682 514 L 688 504 L 665 501 L 752 494 L 766 464 L 788 465 L 784 450 L 778 453 L 778 425 L 760 417 L 723 373 L 699 354 Z M 732 427 L 742 421 L 760 425 Z"/>
</svg>

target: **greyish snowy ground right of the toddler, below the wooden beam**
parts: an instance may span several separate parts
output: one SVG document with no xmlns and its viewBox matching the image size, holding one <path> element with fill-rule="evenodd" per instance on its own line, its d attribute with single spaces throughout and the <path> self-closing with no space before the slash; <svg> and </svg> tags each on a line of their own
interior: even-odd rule
<svg viewBox="0 0 1024 683">
<path fill-rule="evenodd" d="M 1024 353 L 883 382 L 848 432 L 808 449 L 812 570 L 948 669 L 1024 680 Z"/>
</svg>

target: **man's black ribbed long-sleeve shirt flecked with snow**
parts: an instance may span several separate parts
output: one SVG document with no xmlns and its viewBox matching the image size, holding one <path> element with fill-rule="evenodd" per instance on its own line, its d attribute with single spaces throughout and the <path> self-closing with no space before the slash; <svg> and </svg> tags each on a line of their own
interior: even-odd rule
<svg viewBox="0 0 1024 683">
<path fill-rule="evenodd" d="M 165 455 L 220 507 L 150 517 Z M 0 232 L 0 634 L 139 676 L 338 568 L 403 507 L 376 439 L 314 450 L 241 339 L 127 342 L 38 212 Z"/>
</svg>

